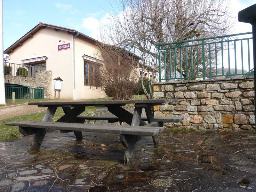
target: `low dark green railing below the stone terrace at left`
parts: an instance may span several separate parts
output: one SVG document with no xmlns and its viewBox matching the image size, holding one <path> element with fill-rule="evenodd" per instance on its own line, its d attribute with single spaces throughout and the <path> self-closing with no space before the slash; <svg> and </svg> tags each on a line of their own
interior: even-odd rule
<svg viewBox="0 0 256 192">
<path fill-rule="evenodd" d="M 16 99 L 44 99 L 44 87 L 5 85 L 4 92 L 7 99 L 12 99 L 12 92 Z"/>
</svg>

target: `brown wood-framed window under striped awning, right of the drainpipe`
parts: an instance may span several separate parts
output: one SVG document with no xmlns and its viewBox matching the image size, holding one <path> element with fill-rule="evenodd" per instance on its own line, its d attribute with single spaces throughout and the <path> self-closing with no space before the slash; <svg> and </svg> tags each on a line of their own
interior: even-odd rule
<svg viewBox="0 0 256 192">
<path fill-rule="evenodd" d="M 100 66 L 95 63 L 84 61 L 84 85 L 98 86 Z"/>
</svg>

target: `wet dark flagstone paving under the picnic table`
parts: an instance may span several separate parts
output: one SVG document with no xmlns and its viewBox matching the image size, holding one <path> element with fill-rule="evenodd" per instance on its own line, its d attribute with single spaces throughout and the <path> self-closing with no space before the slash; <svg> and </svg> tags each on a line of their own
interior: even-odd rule
<svg viewBox="0 0 256 192">
<path fill-rule="evenodd" d="M 0 141 L 0 191 L 196 192 L 256 190 L 254 132 L 180 132 L 137 142 L 123 165 L 119 135 L 47 133 L 41 151 L 28 153 L 33 136 Z"/>
</svg>

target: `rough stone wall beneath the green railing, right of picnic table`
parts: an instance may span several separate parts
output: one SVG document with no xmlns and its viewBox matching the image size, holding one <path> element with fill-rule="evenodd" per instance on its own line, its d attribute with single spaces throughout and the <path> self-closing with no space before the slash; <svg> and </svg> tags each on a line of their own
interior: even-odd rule
<svg viewBox="0 0 256 192">
<path fill-rule="evenodd" d="M 182 116 L 166 126 L 195 130 L 252 130 L 255 128 L 253 78 L 156 83 L 154 97 L 178 98 L 155 108 L 155 116 Z"/>
</svg>

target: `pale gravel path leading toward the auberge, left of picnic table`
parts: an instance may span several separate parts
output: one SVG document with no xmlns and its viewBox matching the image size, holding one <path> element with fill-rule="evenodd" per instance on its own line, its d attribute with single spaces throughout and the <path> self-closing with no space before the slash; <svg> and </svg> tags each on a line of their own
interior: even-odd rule
<svg viewBox="0 0 256 192">
<path fill-rule="evenodd" d="M 36 113 L 39 111 L 44 111 L 46 109 L 47 108 L 41 108 L 41 107 L 38 108 L 37 105 L 28 105 L 28 104 L 24 104 L 24 105 L 12 107 L 12 108 L 4 108 L 4 109 L 0 109 L 0 120 L 6 119 L 9 117 Z"/>
</svg>

